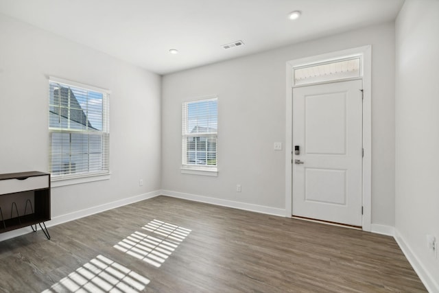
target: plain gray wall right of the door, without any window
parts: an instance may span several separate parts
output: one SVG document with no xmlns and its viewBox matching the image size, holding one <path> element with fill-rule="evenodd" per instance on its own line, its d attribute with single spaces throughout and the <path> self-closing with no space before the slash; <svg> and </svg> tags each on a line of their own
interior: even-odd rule
<svg viewBox="0 0 439 293">
<path fill-rule="evenodd" d="M 438 32 L 439 1 L 405 1 L 396 19 L 395 228 L 431 292 L 439 292 L 439 260 L 427 249 L 427 234 L 439 242 Z"/>
</svg>

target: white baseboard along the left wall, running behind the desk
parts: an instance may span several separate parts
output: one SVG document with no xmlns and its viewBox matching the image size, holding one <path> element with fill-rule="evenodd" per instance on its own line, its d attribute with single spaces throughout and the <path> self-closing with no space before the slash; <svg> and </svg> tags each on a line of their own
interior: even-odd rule
<svg viewBox="0 0 439 293">
<path fill-rule="evenodd" d="M 84 218 L 87 215 L 93 215 L 95 213 L 101 213 L 102 211 L 107 211 L 109 209 L 115 209 L 117 207 L 124 206 L 126 204 L 132 204 L 134 202 L 139 202 L 141 200 L 147 200 L 148 198 L 154 198 L 161 194 L 160 190 L 151 191 L 146 194 L 140 194 L 139 196 L 132 196 L 131 198 L 123 198 L 122 200 L 116 200 L 114 202 L 108 202 L 106 204 L 101 204 L 96 207 L 90 207 L 88 209 L 82 209 L 80 211 L 74 211 L 73 213 L 67 213 L 65 215 L 58 215 L 52 218 L 50 221 L 45 222 L 46 226 L 49 228 L 51 226 L 56 226 L 65 222 L 69 222 L 72 220 L 77 220 L 80 218 Z M 37 225 L 38 230 L 40 227 Z M 30 227 L 19 228 L 13 231 L 5 232 L 0 234 L 0 241 L 14 238 L 17 236 L 25 235 L 27 233 L 32 232 Z M 49 231 L 50 233 L 50 231 Z"/>
</svg>

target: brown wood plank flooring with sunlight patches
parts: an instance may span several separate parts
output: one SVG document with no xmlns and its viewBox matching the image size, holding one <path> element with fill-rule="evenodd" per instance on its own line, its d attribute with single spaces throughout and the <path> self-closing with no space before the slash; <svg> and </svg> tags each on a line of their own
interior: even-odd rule
<svg viewBox="0 0 439 293">
<path fill-rule="evenodd" d="M 0 292 L 426 292 L 392 237 L 166 196 L 49 232 L 0 242 Z"/>
</svg>

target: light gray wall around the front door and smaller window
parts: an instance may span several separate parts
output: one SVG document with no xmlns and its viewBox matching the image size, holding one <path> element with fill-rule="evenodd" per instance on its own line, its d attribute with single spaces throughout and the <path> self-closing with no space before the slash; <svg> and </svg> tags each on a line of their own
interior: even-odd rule
<svg viewBox="0 0 439 293">
<path fill-rule="evenodd" d="M 372 45 L 372 223 L 393 226 L 393 23 L 165 75 L 162 188 L 285 209 L 285 150 L 273 150 L 285 145 L 285 63 L 363 45 Z M 206 95 L 218 95 L 218 176 L 181 174 L 181 103 Z"/>
</svg>

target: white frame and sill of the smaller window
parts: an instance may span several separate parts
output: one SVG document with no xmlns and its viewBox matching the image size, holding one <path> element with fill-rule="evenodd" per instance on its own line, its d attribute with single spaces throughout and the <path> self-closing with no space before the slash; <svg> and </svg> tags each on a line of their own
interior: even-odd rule
<svg viewBox="0 0 439 293">
<path fill-rule="evenodd" d="M 188 105 L 189 104 L 195 104 L 200 102 L 209 102 L 209 101 L 215 101 L 216 106 L 218 106 L 218 97 L 216 95 L 208 96 L 208 97 L 200 97 L 198 99 L 192 99 L 185 102 L 182 102 L 182 158 L 181 158 L 181 168 L 180 171 L 182 174 L 195 174 L 195 175 L 204 175 L 204 176 L 217 176 L 218 173 L 218 129 L 216 128 L 215 132 L 206 132 L 206 133 L 191 133 L 187 131 L 187 126 L 189 124 L 188 122 Z M 216 125 L 218 124 L 218 108 L 216 112 Z M 206 138 L 206 147 L 205 147 L 205 153 L 206 153 L 206 161 L 209 160 L 209 152 L 212 153 L 213 151 L 209 151 L 208 148 L 208 142 L 209 139 L 215 140 L 215 165 L 204 165 L 204 164 L 188 164 L 187 158 L 188 158 L 188 151 L 187 151 L 187 139 L 190 137 L 205 137 Z M 198 152 L 197 146 L 195 144 L 195 152 Z M 195 156 L 196 157 L 196 156 Z"/>
</svg>

